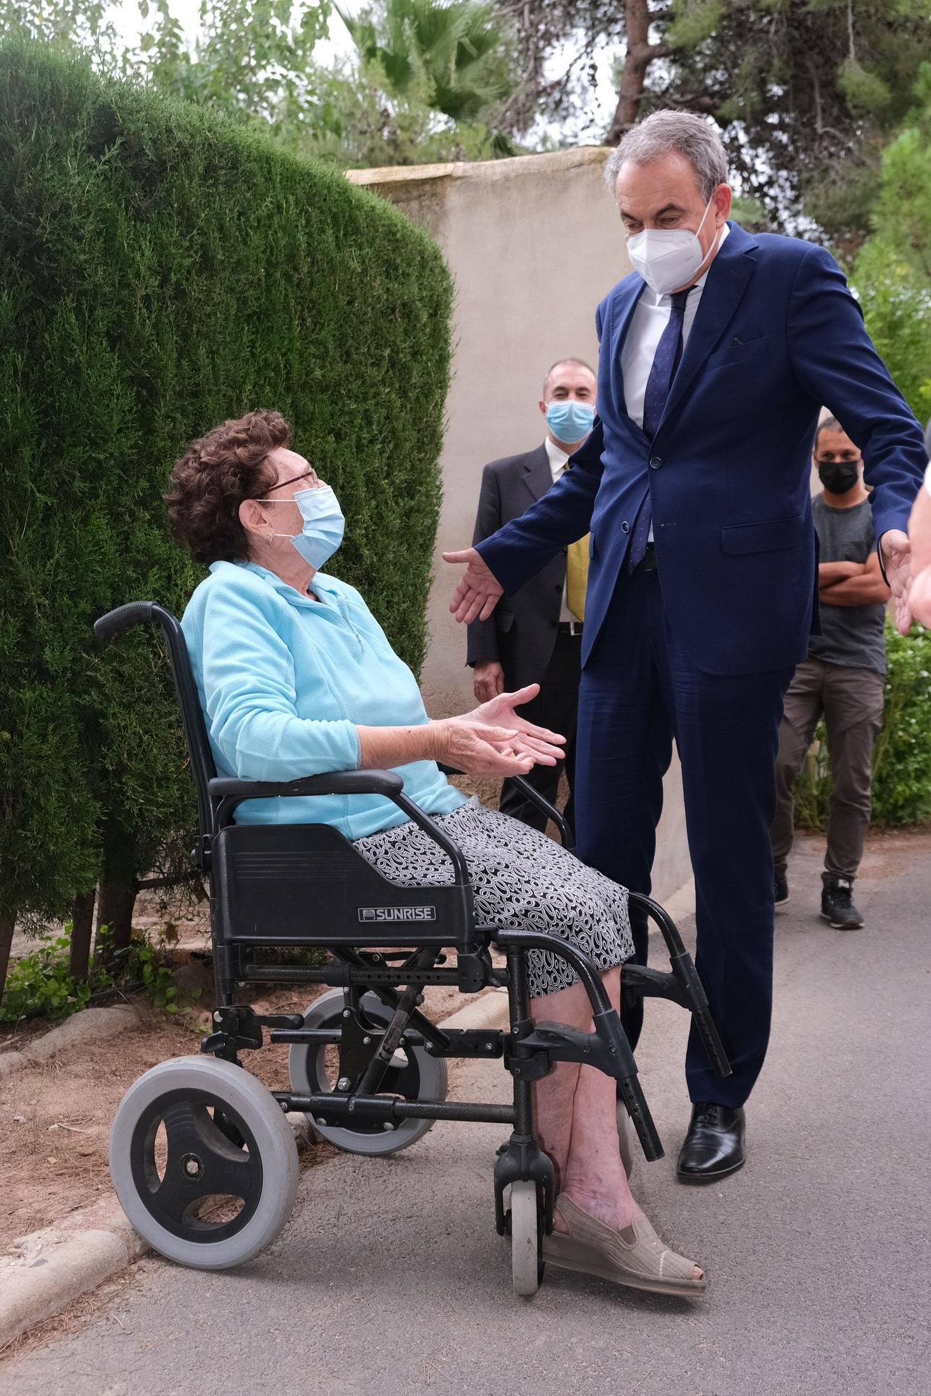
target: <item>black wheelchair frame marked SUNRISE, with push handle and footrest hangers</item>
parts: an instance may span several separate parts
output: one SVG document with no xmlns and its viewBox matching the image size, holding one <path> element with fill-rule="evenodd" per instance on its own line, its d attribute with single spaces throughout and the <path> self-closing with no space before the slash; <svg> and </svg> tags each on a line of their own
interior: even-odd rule
<svg viewBox="0 0 931 1396">
<path fill-rule="evenodd" d="M 269 1030 L 272 1043 L 338 1046 L 341 1055 L 336 1090 L 314 1094 L 300 1094 L 293 1090 L 272 1092 L 282 1110 L 307 1113 L 321 1124 L 352 1127 L 353 1121 L 392 1124 L 413 1118 L 511 1125 L 511 1138 L 500 1150 L 494 1174 L 496 1220 L 501 1233 L 505 1230 L 504 1189 L 516 1180 L 533 1180 L 537 1184 L 544 1227 L 547 1231 L 551 1230 L 556 1180 L 553 1164 L 535 1136 L 532 1087 L 533 1082 L 547 1075 L 557 1061 L 589 1064 L 613 1076 L 618 1082 L 645 1156 L 662 1157 L 663 1148 L 643 1099 L 634 1054 L 590 959 L 556 935 L 476 926 L 472 888 L 462 852 L 430 815 L 405 796 L 403 782 L 392 771 L 348 771 L 275 783 L 218 778 L 187 646 L 176 617 L 155 602 L 130 602 L 100 617 L 94 628 L 98 639 L 106 644 L 124 630 L 144 623 L 156 623 L 167 645 L 197 789 L 200 836 L 193 850 L 193 861 L 209 882 L 218 1007 L 214 1012 L 214 1030 L 202 1040 L 201 1050 L 240 1064 L 240 1051 L 262 1046 L 262 1029 Z M 516 779 L 515 783 L 528 800 L 553 819 L 560 829 L 563 843 L 572 849 L 569 829 L 560 812 L 525 780 Z M 328 825 L 234 824 L 236 808 L 243 800 L 329 794 L 380 794 L 392 800 L 451 860 L 452 885 L 399 888 L 371 868 L 352 849 L 349 840 Z M 281 843 L 289 840 L 293 847 L 282 850 Z M 274 852 L 265 853 L 265 845 L 272 849 L 272 842 Z M 301 868 L 308 861 L 322 874 L 331 871 L 331 864 L 336 870 L 341 863 L 343 868 L 349 867 L 349 856 L 356 860 L 355 877 L 364 879 L 368 888 L 375 888 L 380 896 L 378 906 L 359 909 L 359 917 L 363 910 L 375 910 L 385 913 L 384 920 L 368 923 L 357 920 L 329 934 L 313 931 L 281 934 L 255 930 L 255 924 L 267 912 L 267 902 L 274 903 L 281 885 L 288 884 L 289 877 L 292 881 L 306 878 Z M 262 868 L 265 868 L 264 875 Z M 240 877 L 241 898 L 236 895 L 237 877 Z M 254 891 L 250 879 L 258 879 L 262 886 Z M 329 885 L 342 884 L 331 878 Z M 427 916 L 424 912 L 427 895 L 433 907 L 430 919 L 416 920 L 416 916 Z M 669 998 L 690 1009 L 715 1071 L 717 1075 L 727 1075 L 730 1072 L 727 1057 L 678 930 L 666 912 L 649 898 L 634 892 L 630 898 L 631 905 L 641 907 L 659 927 L 670 955 L 670 972 L 641 965 L 625 966 L 623 974 L 625 998 L 628 1001 L 636 997 Z M 243 903 L 247 914 L 253 916 L 251 933 L 237 928 Z M 371 928 L 363 930 L 366 924 Z M 253 951 L 261 945 L 320 946 L 332 955 L 332 963 L 321 966 L 255 963 Z M 505 970 L 493 966 L 490 945 L 504 952 Z M 447 959 L 444 949 L 452 946 L 456 949 L 456 965 L 444 967 Z M 532 1022 L 526 952 L 535 948 L 558 955 L 578 974 L 592 1005 L 590 1033 L 557 1023 Z M 260 983 L 327 984 L 343 988 L 342 1026 L 307 1029 L 300 1013 L 261 1015 L 248 1005 L 236 1004 L 237 986 Z M 490 984 L 507 987 L 508 1030 L 456 1030 L 431 1023 L 420 1011 L 423 988 L 429 984 L 454 986 L 462 993 L 475 993 Z M 366 1018 L 362 1004 L 366 991 L 377 994 L 391 1009 L 392 1018 L 387 1027 Z M 398 1047 L 408 1046 L 422 1046 L 427 1053 L 440 1057 L 504 1058 L 514 1081 L 514 1103 L 500 1106 L 427 1101 L 378 1094 L 378 1086 L 394 1053 Z"/>
</svg>

